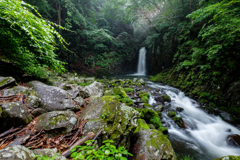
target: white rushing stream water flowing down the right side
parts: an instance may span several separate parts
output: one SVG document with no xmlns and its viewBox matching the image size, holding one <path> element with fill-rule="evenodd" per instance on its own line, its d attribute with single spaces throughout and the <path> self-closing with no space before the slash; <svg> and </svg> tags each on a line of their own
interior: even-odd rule
<svg viewBox="0 0 240 160">
<path fill-rule="evenodd" d="M 198 154 L 196 159 L 211 160 L 226 155 L 240 155 L 240 149 L 227 144 L 229 135 L 238 134 L 240 130 L 224 122 L 220 117 L 208 115 L 201 110 L 196 101 L 186 97 L 183 92 L 170 86 L 164 86 L 149 82 L 149 87 L 163 89 L 172 99 L 171 108 L 181 107 L 183 112 L 178 113 L 184 122 L 189 126 L 188 129 L 181 129 L 170 119 L 168 123 L 171 142 L 179 146 L 180 152 L 183 150 L 194 150 Z M 154 103 L 151 99 L 150 103 Z M 163 113 L 163 112 L 162 112 Z M 194 159 L 195 159 L 194 158 Z"/>
</svg>

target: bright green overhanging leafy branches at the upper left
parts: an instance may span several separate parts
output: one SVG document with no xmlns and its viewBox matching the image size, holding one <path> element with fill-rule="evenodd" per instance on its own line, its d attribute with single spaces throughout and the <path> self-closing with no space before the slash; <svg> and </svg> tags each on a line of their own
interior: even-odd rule
<svg viewBox="0 0 240 160">
<path fill-rule="evenodd" d="M 65 63 L 54 53 L 55 38 L 66 49 L 65 40 L 54 27 L 65 28 L 44 20 L 33 6 L 21 0 L 1 1 L 0 8 L 1 60 L 35 76 L 46 75 L 47 67 L 65 71 Z"/>
</svg>

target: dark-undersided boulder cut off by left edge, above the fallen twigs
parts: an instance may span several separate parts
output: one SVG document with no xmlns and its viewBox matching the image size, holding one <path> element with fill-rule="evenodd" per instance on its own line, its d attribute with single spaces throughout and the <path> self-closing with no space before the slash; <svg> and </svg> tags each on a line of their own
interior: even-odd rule
<svg viewBox="0 0 240 160">
<path fill-rule="evenodd" d="M 0 131 L 5 131 L 11 127 L 26 125 L 31 122 L 32 117 L 25 104 L 21 102 L 7 102 L 0 107 Z"/>
</svg>

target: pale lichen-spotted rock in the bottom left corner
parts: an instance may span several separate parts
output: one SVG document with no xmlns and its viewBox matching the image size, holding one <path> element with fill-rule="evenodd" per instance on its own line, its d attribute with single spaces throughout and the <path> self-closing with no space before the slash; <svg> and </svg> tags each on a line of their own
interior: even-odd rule
<svg viewBox="0 0 240 160">
<path fill-rule="evenodd" d="M 35 154 L 24 146 L 16 145 L 0 150 L 1 160 L 33 160 Z"/>
</svg>

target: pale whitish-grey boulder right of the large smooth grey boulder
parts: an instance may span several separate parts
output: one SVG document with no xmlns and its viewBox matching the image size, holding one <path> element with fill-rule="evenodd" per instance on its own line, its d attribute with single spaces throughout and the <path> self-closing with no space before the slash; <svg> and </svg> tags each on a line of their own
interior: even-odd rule
<svg viewBox="0 0 240 160">
<path fill-rule="evenodd" d="M 103 96 L 103 85 L 102 83 L 99 82 L 93 82 L 89 86 L 86 87 L 78 87 L 79 89 L 79 94 L 82 98 L 88 98 L 91 96 L 94 97 L 101 97 Z"/>
</svg>

